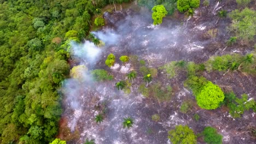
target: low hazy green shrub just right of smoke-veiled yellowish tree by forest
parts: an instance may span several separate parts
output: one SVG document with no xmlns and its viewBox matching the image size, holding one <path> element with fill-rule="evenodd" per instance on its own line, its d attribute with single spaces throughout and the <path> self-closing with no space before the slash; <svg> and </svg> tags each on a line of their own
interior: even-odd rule
<svg viewBox="0 0 256 144">
<path fill-rule="evenodd" d="M 112 80 L 113 76 L 109 75 L 104 69 L 95 69 L 91 71 L 92 77 L 95 81 Z"/>
</svg>

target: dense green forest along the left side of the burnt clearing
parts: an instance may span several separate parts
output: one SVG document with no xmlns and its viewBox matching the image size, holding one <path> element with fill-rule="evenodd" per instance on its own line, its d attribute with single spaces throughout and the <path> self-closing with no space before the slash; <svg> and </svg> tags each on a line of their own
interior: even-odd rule
<svg viewBox="0 0 256 144">
<path fill-rule="evenodd" d="M 69 73 L 69 41 L 83 40 L 96 9 L 109 2 L 0 1 L 2 143 L 54 140 L 62 113 L 58 88 Z"/>
</svg>

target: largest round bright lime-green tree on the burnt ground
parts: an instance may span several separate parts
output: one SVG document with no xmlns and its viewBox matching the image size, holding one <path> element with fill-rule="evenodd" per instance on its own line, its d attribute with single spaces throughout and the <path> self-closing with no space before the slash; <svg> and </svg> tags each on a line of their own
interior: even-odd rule
<svg viewBox="0 0 256 144">
<path fill-rule="evenodd" d="M 196 95 L 196 102 L 202 109 L 212 110 L 217 109 L 224 98 L 222 89 L 208 81 L 202 91 Z"/>
</svg>

